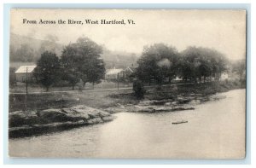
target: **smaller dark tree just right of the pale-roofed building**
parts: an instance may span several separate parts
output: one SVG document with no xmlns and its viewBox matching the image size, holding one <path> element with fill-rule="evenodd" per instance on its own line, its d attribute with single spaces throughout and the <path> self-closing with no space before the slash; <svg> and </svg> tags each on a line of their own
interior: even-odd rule
<svg viewBox="0 0 256 168">
<path fill-rule="evenodd" d="M 38 60 L 33 75 L 48 91 L 49 87 L 60 79 L 60 68 L 60 61 L 55 53 L 45 51 Z"/>
</svg>

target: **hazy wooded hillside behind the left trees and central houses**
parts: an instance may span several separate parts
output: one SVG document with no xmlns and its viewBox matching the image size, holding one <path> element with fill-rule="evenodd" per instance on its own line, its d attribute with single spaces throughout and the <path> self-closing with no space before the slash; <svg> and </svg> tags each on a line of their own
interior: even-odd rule
<svg viewBox="0 0 256 168">
<path fill-rule="evenodd" d="M 42 40 L 20 36 L 14 33 L 10 34 L 10 67 L 19 67 L 20 65 L 35 64 L 41 53 L 45 50 L 55 52 L 61 56 L 61 50 L 64 44 L 55 43 L 54 40 Z M 125 68 L 136 65 L 138 55 L 128 52 L 111 51 L 103 47 L 102 59 L 106 63 L 106 68 Z"/>
</svg>

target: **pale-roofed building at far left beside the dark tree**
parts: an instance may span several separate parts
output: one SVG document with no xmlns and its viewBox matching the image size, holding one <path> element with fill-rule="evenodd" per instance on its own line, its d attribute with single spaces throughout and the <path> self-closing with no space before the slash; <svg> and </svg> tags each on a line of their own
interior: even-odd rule
<svg viewBox="0 0 256 168">
<path fill-rule="evenodd" d="M 20 66 L 17 71 L 15 71 L 16 81 L 17 82 L 26 82 L 26 78 L 28 82 L 34 81 L 32 76 L 32 72 L 37 66 Z"/>
</svg>

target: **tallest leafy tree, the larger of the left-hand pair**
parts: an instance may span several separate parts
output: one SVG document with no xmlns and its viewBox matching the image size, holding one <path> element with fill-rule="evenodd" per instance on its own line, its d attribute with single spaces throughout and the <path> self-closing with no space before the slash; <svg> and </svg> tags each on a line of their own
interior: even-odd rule
<svg viewBox="0 0 256 168">
<path fill-rule="evenodd" d="M 61 55 L 63 78 L 72 84 L 73 89 L 80 79 L 84 85 L 87 82 L 100 83 L 105 73 L 101 54 L 102 47 L 90 38 L 79 38 L 76 43 L 70 43 Z"/>
</svg>

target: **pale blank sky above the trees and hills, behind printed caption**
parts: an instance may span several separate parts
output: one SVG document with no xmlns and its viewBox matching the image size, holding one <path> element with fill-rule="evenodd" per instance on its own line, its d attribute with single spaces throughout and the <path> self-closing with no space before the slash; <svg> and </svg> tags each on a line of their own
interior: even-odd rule
<svg viewBox="0 0 256 168">
<path fill-rule="evenodd" d="M 24 23 L 24 19 L 37 24 Z M 39 24 L 41 19 L 81 20 L 84 24 Z M 85 24 L 84 20 L 125 20 L 126 24 Z M 246 55 L 244 10 L 12 9 L 10 23 L 10 32 L 22 36 L 63 44 L 84 36 L 113 51 L 141 54 L 146 45 L 166 43 L 178 51 L 188 46 L 217 49 L 230 60 Z"/>
</svg>

